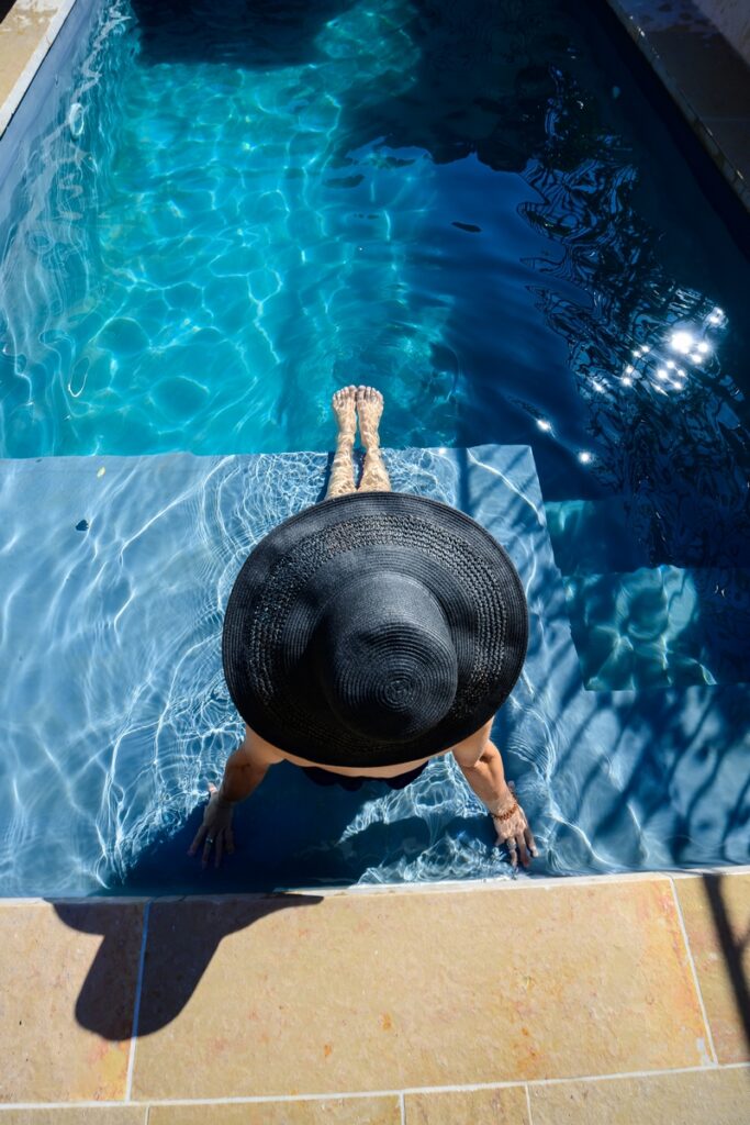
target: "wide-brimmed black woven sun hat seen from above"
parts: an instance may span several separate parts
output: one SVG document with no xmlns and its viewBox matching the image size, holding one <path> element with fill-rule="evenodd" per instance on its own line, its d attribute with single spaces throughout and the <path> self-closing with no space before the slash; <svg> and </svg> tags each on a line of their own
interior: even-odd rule
<svg viewBox="0 0 750 1125">
<path fill-rule="evenodd" d="M 262 738 L 308 762 L 415 762 L 472 735 L 521 674 L 521 578 L 480 524 L 437 501 L 351 493 L 252 551 L 229 595 L 229 693 Z"/>
</svg>

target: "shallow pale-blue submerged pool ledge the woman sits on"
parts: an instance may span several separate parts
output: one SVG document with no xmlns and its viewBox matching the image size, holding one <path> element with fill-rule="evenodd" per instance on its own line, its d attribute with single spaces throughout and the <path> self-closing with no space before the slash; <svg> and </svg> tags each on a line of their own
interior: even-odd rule
<svg viewBox="0 0 750 1125">
<path fill-rule="evenodd" d="M 508 550 L 530 645 L 494 737 L 540 842 L 528 878 L 747 862 L 748 684 L 587 691 L 527 447 L 386 450 L 394 487 L 453 504 Z M 0 888 L 196 893 L 187 846 L 242 724 L 224 606 L 252 549 L 322 498 L 329 454 L 0 462 Z M 295 816 L 289 816 L 289 810 Z M 237 811 L 217 892 L 507 871 L 450 757 L 383 794 L 281 764 Z M 252 856 L 253 862 L 247 863 Z"/>
</svg>

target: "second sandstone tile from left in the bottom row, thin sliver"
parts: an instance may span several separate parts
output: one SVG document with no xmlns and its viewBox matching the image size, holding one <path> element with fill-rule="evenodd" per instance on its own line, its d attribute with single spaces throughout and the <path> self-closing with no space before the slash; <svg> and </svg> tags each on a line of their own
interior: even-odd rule
<svg viewBox="0 0 750 1125">
<path fill-rule="evenodd" d="M 152 1106 L 148 1125 L 400 1125 L 395 1095 L 222 1106 Z"/>
</svg>

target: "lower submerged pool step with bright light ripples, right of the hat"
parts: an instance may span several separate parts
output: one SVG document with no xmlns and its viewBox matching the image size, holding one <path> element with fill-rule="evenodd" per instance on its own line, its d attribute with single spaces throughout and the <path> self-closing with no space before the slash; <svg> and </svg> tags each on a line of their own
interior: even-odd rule
<svg viewBox="0 0 750 1125">
<path fill-rule="evenodd" d="M 564 588 L 587 688 L 750 682 L 750 569 L 639 567 Z"/>
</svg>

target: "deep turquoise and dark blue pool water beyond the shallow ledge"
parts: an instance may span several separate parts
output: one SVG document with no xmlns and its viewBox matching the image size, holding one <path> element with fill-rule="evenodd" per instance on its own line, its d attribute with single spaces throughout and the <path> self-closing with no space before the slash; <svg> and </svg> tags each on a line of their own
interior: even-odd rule
<svg viewBox="0 0 750 1125">
<path fill-rule="evenodd" d="M 374 382 L 386 444 L 532 447 L 591 693 L 744 684 L 750 271 L 624 37 L 557 0 L 92 18 L 7 181 L 2 454 L 324 450 Z"/>
</svg>

